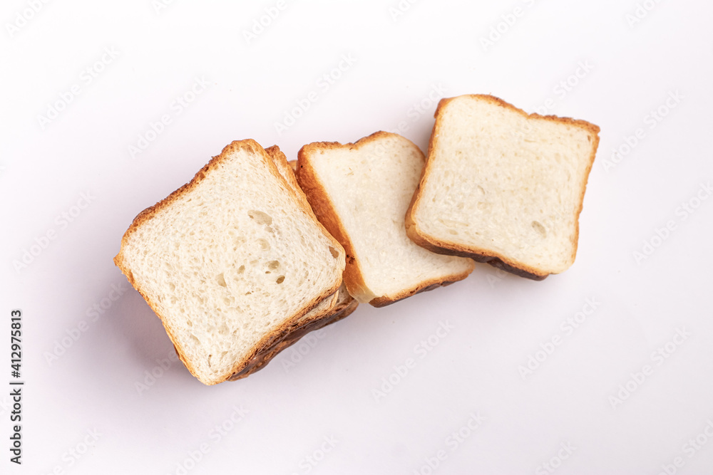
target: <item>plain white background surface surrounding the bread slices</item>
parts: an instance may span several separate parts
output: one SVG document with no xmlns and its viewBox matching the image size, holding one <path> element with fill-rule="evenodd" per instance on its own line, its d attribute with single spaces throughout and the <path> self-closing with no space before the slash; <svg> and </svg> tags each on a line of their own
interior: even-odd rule
<svg viewBox="0 0 713 475">
<path fill-rule="evenodd" d="M 658 474 L 677 456 L 677 473 L 712 473 L 713 438 L 684 444 L 713 420 L 713 199 L 696 201 L 713 179 L 713 6 L 645 3 L 651 10 L 630 24 L 634 0 L 421 0 L 395 19 L 396 0 L 287 1 L 248 42 L 244 32 L 275 1 L 158 11 L 151 0 L 50 1 L 33 15 L 23 13 L 28 1 L 4 1 L 0 473 L 428 474 L 441 450 L 434 473 L 550 473 L 540 464 L 552 460 L 558 474 Z M 483 46 L 498 24 L 501 37 Z M 116 57 L 93 66 L 105 48 Z M 320 88 L 343 55 L 356 61 Z M 103 71 L 89 83 L 86 68 Z M 570 77 L 578 68 L 583 77 Z M 210 85 L 177 115 L 172 104 L 195 78 Z M 78 95 L 41 124 L 73 85 Z M 127 287 L 112 258 L 133 216 L 232 140 L 277 143 L 294 159 L 308 142 L 352 142 L 405 121 L 403 134 L 425 148 L 434 88 L 491 93 L 528 112 L 547 104 L 600 125 L 574 266 L 534 282 L 480 265 L 448 288 L 361 306 L 303 345 L 306 354 L 287 350 L 247 380 L 206 387 L 180 363 L 162 370 L 157 360 L 173 347 L 158 318 L 133 289 L 108 300 L 112 286 Z M 316 102 L 280 135 L 275 122 L 311 90 Z M 652 122 L 660 107 L 667 115 Z M 164 114 L 170 124 L 132 157 L 129 146 Z M 614 164 L 612 149 L 639 128 Z M 91 204 L 79 209 L 83 193 Z M 689 201 L 692 214 L 682 211 Z M 658 239 L 667 221 L 672 231 Z M 55 239 L 43 241 L 48 231 Z M 645 241 L 655 250 L 636 259 Z M 595 312 L 565 332 L 588 298 L 600 302 Z M 6 449 L 14 308 L 24 313 L 19 467 Z M 453 330 L 421 357 L 416 345 L 441 322 Z M 652 358 L 677 329 L 689 336 Z M 560 345 L 523 378 L 518 368 L 554 335 Z M 376 396 L 409 357 L 415 367 Z M 645 365 L 651 374 L 612 400 Z M 226 422 L 234 406 L 247 411 L 236 424 Z M 474 430 L 471 413 L 484 418 Z M 232 427 L 218 441 L 224 423 Z M 459 430 L 466 437 L 453 442 Z M 325 437 L 337 441 L 329 452 Z"/>
</svg>

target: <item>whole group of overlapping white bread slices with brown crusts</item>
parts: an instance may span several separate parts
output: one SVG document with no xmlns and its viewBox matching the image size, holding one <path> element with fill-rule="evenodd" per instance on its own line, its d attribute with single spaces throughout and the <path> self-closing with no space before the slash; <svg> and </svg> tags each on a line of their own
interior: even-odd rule
<svg viewBox="0 0 713 475">
<path fill-rule="evenodd" d="M 387 132 L 296 162 L 232 142 L 136 216 L 114 261 L 198 380 L 237 380 L 359 303 L 460 281 L 476 261 L 565 271 L 598 132 L 463 95 L 438 105 L 427 157 Z"/>
</svg>

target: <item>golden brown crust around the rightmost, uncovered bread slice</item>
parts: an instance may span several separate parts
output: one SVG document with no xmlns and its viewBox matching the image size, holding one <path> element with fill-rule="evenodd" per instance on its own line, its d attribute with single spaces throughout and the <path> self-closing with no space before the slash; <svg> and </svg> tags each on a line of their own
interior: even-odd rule
<svg viewBox="0 0 713 475">
<path fill-rule="evenodd" d="M 589 132 L 590 140 L 592 141 L 592 152 L 590 154 L 589 163 L 588 163 L 587 169 L 585 171 L 582 192 L 580 193 L 579 207 L 578 207 L 578 210 L 577 210 L 577 213 L 575 216 L 575 235 L 573 237 L 573 255 L 572 255 L 572 260 L 574 261 L 575 255 L 577 254 L 577 246 L 578 246 L 578 241 L 579 241 L 579 216 L 580 216 L 580 213 L 582 212 L 582 207 L 584 204 L 584 194 L 587 189 L 587 181 L 588 181 L 589 173 L 590 173 L 590 170 L 592 169 L 592 165 L 594 164 L 595 155 L 597 153 L 597 147 L 599 146 L 600 128 L 597 125 L 591 124 L 590 122 L 586 122 L 585 120 L 561 118 L 556 115 L 539 115 L 539 114 L 534 114 L 534 113 L 528 114 L 524 110 L 518 109 L 514 105 L 512 105 L 510 103 L 506 103 L 506 101 L 504 101 L 500 98 L 496 98 L 492 95 L 471 94 L 471 95 L 458 96 L 458 97 L 471 97 L 471 98 L 478 98 L 478 99 L 486 100 L 489 103 L 493 103 L 493 104 L 499 105 L 503 108 L 508 108 L 510 110 L 513 110 L 528 119 L 550 120 L 552 122 L 558 122 L 560 124 L 567 124 L 567 125 L 572 125 L 574 127 L 580 127 L 580 128 L 583 128 L 584 130 L 587 130 Z M 431 160 L 429 160 L 429 159 L 433 156 L 434 150 L 436 149 L 436 144 L 441 136 L 441 133 L 440 133 L 441 128 L 440 128 L 440 120 L 439 119 L 441 118 L 441 114 L 443 113 L 443 109 L 446 107 L 446 105 L 448 105 L 448 103 L 450 103 L 451 100 L 457 99 L 458 97 L 441 99 L 441 101 L 438 103 L 438 108 L 436 108 L 436 113 L 434 114 L 434 117 L 436 118 L 436 123 L 434 124 L 433 132 L 431 132 L 431 140 L 429 141 L 429 155 L 428 155 L 428 157 L 426 157 L 426 166 L 421 171 L 421 179 L 419 180 L 419 186 L 416 187 L 416 192 L 414 192 L 414 197 L 411 198 L 411 204 L 409 205 L 409 209 L 406 211 L 406 234 L 416 244 L 418 244 L 419 246 L 424 247 L 426 249 L 429 249 L 429 251 L 431 251 L 431 252 L 436 252 L 438 254 L 446 254 L 449 256 L 470 257 L 471 259 L 473 259 L 477 262 L 485 262 L 485 263 L 491 264 L 491 266 L 501 268 L 501 269 L 503 269 L 503 271 L 508 271 L 508 272 L 514 273 L 515 275 L 518 275 L 521 277 L 531 278 L 535 281 L 541 281 L 550 274 L 545 273 L 539 269 L 533 268 L 531 266 L 527 266 L 524 263 L 513 261 L 512 259 L 509 259 L 508 256 L 503 256 L 501 254 L 493 253 L 486 249 L 481 249 L 481 248 L 477 248 L 474 246 L 473 247 L 461 246 L 459 244 L 452 243 L 452 242 L 445 242 L 445 241 L 438 241 L 436 239 L 431 239 L 429 236 L 426 236 L 425 234 L 423 234 L 421 232 L 421 230 L 419 229 L 419 226 L 416 224 L 416 222 L 413 219 L 414 208 L 416 206 L 418 206 L 418 204 L 420 203 L 420 199 L 421 199 L 421 185 L 424 184 L 426 179 L 429 177 L 429 173 L 431 171 L 431 165 L 433 165 Z"/>
</svg>

